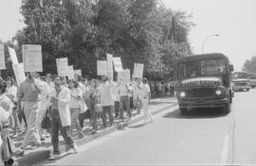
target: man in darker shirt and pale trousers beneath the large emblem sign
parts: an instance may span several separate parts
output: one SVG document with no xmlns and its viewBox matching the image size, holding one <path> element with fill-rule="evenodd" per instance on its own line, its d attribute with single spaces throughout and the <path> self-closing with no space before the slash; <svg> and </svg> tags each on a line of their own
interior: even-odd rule
<svg viewBox="0 0 256 166">
<path fill-rule="evenodd" d="M 20 85 L 18 92 L 17 105 L 21 109 L 21 102 L 23 101 L 23 108 L 27 120 L 27 132 L 19 155 L 24 154 L 31 136 L 34 139 L 32 149 L 39 147 L 41 144 L 37 123 L 43 86 L 38 77 L 36 73 L 27 73 L 27 79 Z"/>
</svg>

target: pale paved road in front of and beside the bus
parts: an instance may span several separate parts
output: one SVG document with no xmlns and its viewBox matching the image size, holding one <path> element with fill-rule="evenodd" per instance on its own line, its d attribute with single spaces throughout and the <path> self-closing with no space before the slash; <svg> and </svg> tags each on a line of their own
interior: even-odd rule
<svg viewBox="0 0 256 166">
<path fill-rule="evenodd" d="M 150 125 L 132 125 L 45 164 L 255 164 L 256 90 L 236 92 L 232 112 L 169 109 Z M 43 163 L 41 163 L 43 164 Z"/>
</svg>

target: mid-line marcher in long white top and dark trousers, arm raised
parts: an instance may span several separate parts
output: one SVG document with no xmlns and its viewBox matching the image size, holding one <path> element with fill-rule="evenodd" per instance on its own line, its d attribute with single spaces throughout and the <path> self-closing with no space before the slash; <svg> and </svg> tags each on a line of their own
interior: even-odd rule
<svg viewBox="0 0 256 166">
<path fill-rule="evenodd" d="M 100 87 L 101 95 L 101 106 L 102 106 L 102 119 L 103 126 L 106 127 L 106 114 L 109 117 L 110 125 L 114 123 L 113 110 L 114 110 L 114 98 L 112 94 L 112 89 L 116 84 L 113 81 L 109 81 L 107 76 L 102 76 L 102 84 Z"/>
</svg>

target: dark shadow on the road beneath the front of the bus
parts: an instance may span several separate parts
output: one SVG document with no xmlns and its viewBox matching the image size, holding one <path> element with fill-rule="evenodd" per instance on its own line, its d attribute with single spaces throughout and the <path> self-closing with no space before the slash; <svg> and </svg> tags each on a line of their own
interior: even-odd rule
<svg viewBox="0 0 256 166">
<path fill-rule="evenodd" d="M 220 118 L 223 116 L 227 116 L 223 108 L 194 108 L 190 109 L 186 114 L 180 114 L 179 109 L 176 109 L 172 112 L 168 112 L 163 117 L 174 119 L 207 119 Z"/>
</svg>

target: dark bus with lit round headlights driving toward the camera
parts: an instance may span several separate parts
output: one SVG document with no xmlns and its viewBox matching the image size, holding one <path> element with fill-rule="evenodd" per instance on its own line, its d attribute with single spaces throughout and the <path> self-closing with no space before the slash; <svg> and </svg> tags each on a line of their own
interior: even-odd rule
<svg viewBox="0 0 256 166">
<path fill-rule="evenodd" d="M 189 108 L 224 108 L 229 113 L 233 70 L 229 58 L 220 53 L 177 60 L 174 79 L 180 113 L 187 113 Z"/>
</svg>

